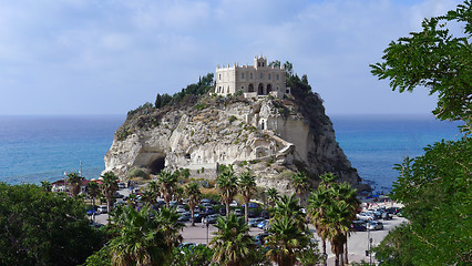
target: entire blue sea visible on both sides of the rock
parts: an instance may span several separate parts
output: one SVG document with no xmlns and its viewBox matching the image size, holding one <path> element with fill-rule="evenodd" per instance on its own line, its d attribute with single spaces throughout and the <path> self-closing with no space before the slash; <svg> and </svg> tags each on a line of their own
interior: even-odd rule
<svg viewBox="0 0 472 266">
<path fill-rule="evenodd" d="M 387 193 L 392 170 L 434 142 L 459 140 L 459 122 L 432 115 L 331 115 L 336 139 L 362 180 Z M 124 115 L 0 116 L 0 182 L 54 182 L 65 173 L 100 177 L 103 157 Z"/>
</svg>

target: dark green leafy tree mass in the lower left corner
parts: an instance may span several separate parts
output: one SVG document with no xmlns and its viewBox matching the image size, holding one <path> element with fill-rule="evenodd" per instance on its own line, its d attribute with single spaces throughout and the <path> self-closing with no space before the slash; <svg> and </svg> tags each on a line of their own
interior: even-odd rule
<svg viewBox="0 0 472 266">
<path fill-rule="evenodd" d="M 0 265 L 78 265 L 100 249 L 83 202 L 37 185 L 0 183 Z"/>
</svg>

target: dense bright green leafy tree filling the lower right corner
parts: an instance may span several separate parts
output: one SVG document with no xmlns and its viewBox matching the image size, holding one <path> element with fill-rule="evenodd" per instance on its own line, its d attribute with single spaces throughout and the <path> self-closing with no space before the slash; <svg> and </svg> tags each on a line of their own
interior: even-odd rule
<svg viewBox="0 0 472 266">
<path fill-rule="evenodd" d="M 378 259 L 399 265 L 472 263 L 471 139 L 438 142 L 396 168 L 400 176 L 392 198 L 404 204 L 402 214 L 410 223 L 386 237 Z"/>
</svg>

